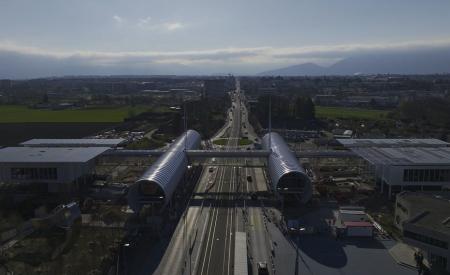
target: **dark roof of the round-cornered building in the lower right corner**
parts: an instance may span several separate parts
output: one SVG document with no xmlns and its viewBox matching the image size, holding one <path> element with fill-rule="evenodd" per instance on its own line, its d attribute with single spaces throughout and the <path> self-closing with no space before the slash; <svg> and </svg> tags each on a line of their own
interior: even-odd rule
<svg viewBox="0 0 450 275">
<path fill-rule="evenodd" d="M 407 223 L 429 230 L 450 234 L 450 195 L 402 192 L 397 195 L 416 209 L 415 217 Z"/>
</svg>

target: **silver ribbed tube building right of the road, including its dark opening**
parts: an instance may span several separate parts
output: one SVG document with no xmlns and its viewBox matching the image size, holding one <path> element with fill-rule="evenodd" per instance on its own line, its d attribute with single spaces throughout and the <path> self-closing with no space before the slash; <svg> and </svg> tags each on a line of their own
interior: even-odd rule
<svg viewBox="0 0 450 275">
<path fill-rule="evenodd" d="M 280 194 L 296 194 L 302 203 L 309 201 L 312 196 L 311 181 L 283 138 L 277 133 L 268 133 L 262 139 L 262 146 L 272 151 L 268 166 L 274 190 Z"/>
</svg>

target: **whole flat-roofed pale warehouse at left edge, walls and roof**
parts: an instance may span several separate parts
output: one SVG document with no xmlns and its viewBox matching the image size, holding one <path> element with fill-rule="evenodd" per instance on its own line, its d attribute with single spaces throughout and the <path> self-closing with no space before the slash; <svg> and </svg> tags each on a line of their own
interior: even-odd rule
<svg viewBox="0 0 450 275">
<path fill-rule="evenodd" d="M 76 192 L 109 147 L 6 147 L 0 149 L 0 182 L 45 183 L 47 191 Z"/>
</svg>

